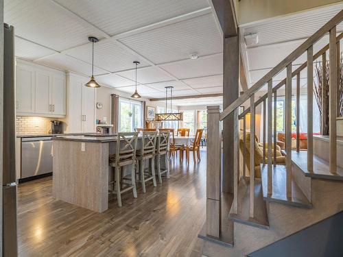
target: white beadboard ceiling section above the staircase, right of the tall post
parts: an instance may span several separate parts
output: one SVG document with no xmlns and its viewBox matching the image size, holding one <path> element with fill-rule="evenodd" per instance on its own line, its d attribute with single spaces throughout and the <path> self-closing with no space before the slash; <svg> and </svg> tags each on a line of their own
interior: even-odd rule
<svg viewBox="0 0 343 257">
<path fill-rule="evenodd" d="M 343 2 L 242 26 L 240 29 L 241 51 L 248 73 L 248 86 L 255 84 L 342 8 Z M 338 25 L 337 30 L 338 33 L 343 32 L 343 23 Z M 259 35 L 258 44 L 247 47 L 244 35 L 255 33 Z M 314 53 L 328 43 L 329 36 L 324 36 L 314 45 Z M 292 69 L 306 62 L 306 58 L 306 53 L 304 53 L 293 62 Z M 306 82 L 307 74 L 301 73 L 301 77 Z M 274 82 L 277 84 L 283 78 L 285 78 L 285 71 L 276 75 Z"/>
</svg>

